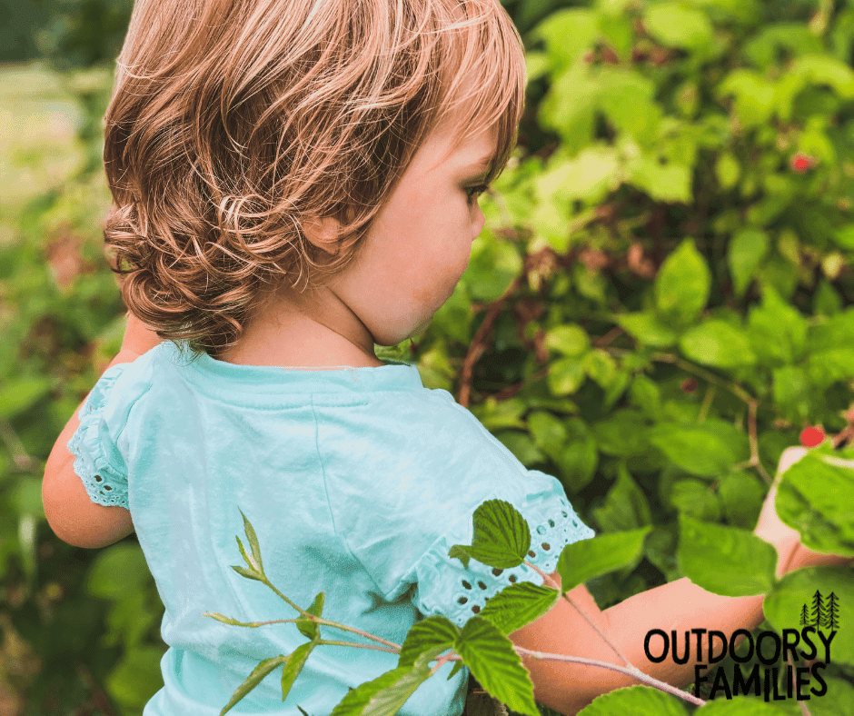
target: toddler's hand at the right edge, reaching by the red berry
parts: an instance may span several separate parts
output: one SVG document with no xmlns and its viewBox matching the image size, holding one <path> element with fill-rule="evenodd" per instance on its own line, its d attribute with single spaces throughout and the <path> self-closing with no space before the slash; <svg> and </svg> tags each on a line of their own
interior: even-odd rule
<svg viewBox="0 0 854 716">
<path fill-rule="evenodd" d="M 798 462 L 806 455 L 807 452 L 809 451 L 804 447 L 790 447 L 783 451 L 783 454 L 780 456 L 780 464 L 777 466 L 774 484 L 771 485 L 768 497 L 765 498 L 759 522 L 753 531 L 757 537 L 772 544 L 780 554 L 780 560 L 777 563 L 778 576 L 782 576 L 800 567 L 821 565 L 839 566 L 851 562 L 847 557 L 838 557 L 834 554 L 820 554 L 819 552 L 808 550 L 800 543 L 798 531 L 793 530 L 788 524 L 785 524 L 777 515 L 774 501 L 777 498 L 777 485 L 780 483 L 780 476 L 795 464 L 795 462 Z"/>
</svg>

